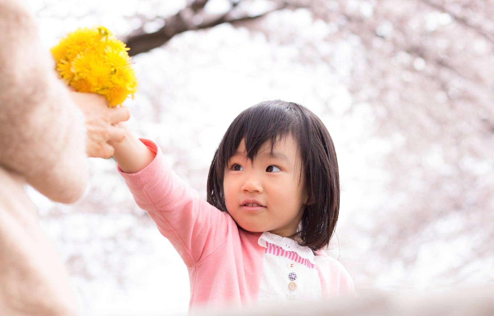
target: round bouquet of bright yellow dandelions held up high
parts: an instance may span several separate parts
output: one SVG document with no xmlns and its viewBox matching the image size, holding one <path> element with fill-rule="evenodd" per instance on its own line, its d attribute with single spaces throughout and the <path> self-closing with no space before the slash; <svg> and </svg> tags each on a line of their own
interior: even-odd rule
<svg viewBox="0 0 494 316">
<path fill-rule="evenodd" d="M 56 70 L 79 92 L 98 93 L 110 107 L 137 92 L 125 44 L 102 26 L 79 28 L 51 48 Z"/>
</svg>

